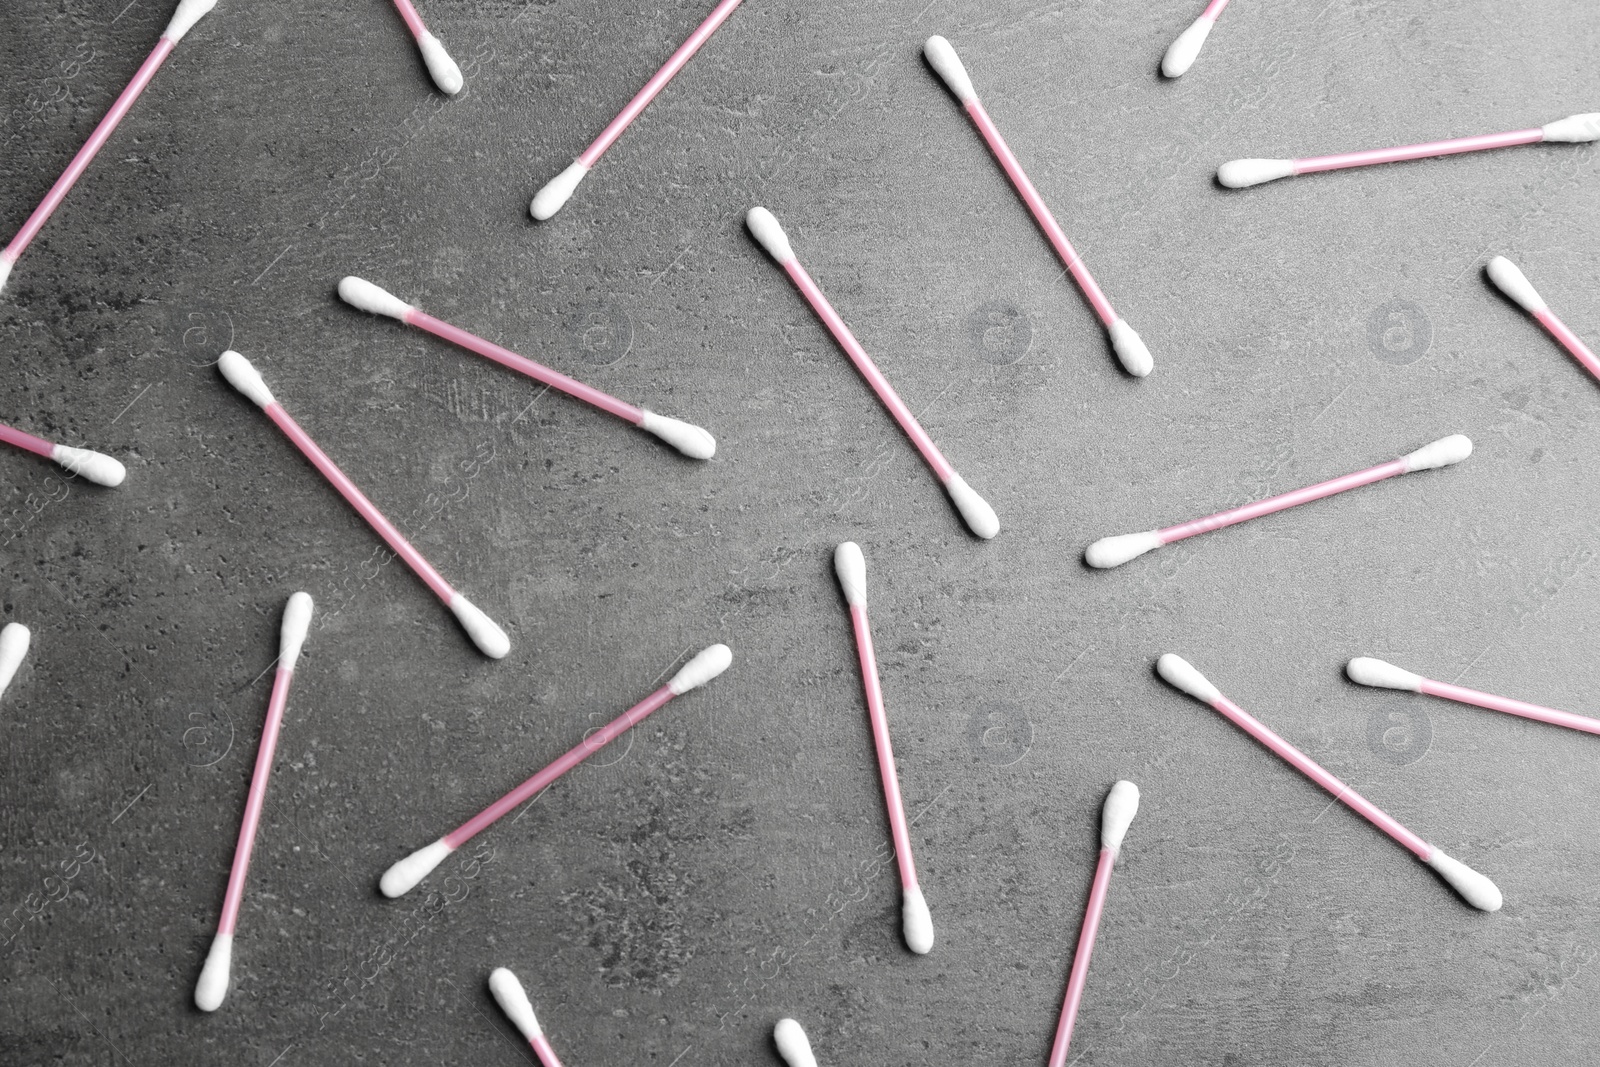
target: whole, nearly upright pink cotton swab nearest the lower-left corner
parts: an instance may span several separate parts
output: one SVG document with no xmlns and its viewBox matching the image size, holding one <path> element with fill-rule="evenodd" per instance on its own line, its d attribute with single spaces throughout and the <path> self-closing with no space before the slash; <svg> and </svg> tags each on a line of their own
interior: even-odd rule
<svg viewBox="0 0 1600 1067">
<path fill-rule="evenodd" d="M 195 984 L 195 1006 L 200 1011 L 216 1011 L 227 997 L 227 976 L 234 966 L 234 929 L 238 926 L 238 905 L 245 899 L 245 873 L 250 870 L 250 853 L 256 848 L 256 827 L 261 825 L 261 805 L 267 798 L 267 779 L 272 777 L 272 755 L 278 749 L 278 728 L 283 725 L 283 709 L 290 701 L 290 685 L 294 681 L 294 664 L 310 630 L 312 600 L 309 593 L 294 593 L 283 609 L 283 625 L 278 637 L 278 670 L 272 678 L 272 699 L 267 702 L 267 721 L 261 728 L 261 745 L 256 749 L 256 773 L 250 777 L 250 797 L 245 800 L 245 819 L 238 827 L 238 845 L 234 846 L 234 869 L 227 875 L 227 893 L 222 896 L 222 917 L 216 923 L 216 937 L 206 953 L 200 981 Z"/>
</svg>

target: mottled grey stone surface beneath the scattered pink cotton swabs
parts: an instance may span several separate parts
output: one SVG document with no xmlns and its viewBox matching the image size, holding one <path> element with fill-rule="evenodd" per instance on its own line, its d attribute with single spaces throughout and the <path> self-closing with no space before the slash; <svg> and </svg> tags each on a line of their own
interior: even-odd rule
<svg viewBox="0 0 1600 1067">
<path fill-rule="evenodd" d="M 749 0 L 547 224 L 560 171 L 709 0 L 222 0 L 0 296 L 0 419 L 128 482 L 0 456 L 0 1062 L 517 1064 L 523 977 L 568 1064 L 1043 1062 L 1117 777 L 1144 806 L 1075 1064 L 1592 1059 L 1595 744 L 1341 677 L 1374 654 L 1600 712 L 1600 392 L 1483 280 L 1506 253 L 1600 341 L 1600 154 L 1542 146 L 1227 192 L 1214 166 L 1600 107 L 1576 0 Z M 168 0 L 0 6 L 0 229 Z M 922 40 L 984 101 L 1157 370 L 1125 378 Z M 802 259 L 1002 517 L 971 539 L 742 229 Z M 344 307 L 362 274 L 712 429 L 694 464 Z M 253 358 L 501 619 L 478 656 L 211 366 Z M 1379 462 L 1454 469 L 1091 573 L 1082 549 Z M 917 861 L 912 957 L 848 617 L 862 544 Z M 190 1006 L 277 649 L 301 662 L 224 1008 Z M 723 640 L 734 667 L 410 897 L 378 875 Z M 1422 837 L 1482 915 L 1205 707 L 1192 659 Z M 72 870 L 72 877 L 64 872 Z"/>
</svg>

